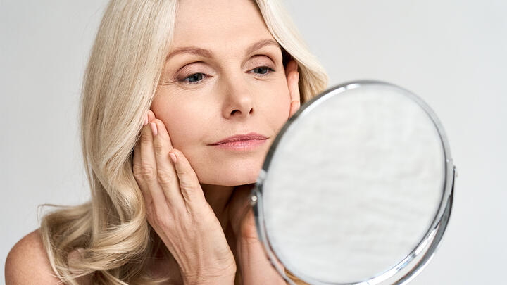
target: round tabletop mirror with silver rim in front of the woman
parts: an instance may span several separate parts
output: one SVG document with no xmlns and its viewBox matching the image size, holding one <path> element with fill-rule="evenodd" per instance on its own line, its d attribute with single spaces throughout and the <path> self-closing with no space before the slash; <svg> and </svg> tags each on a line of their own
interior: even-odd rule
<svg viewBox="0 0 507 285">
<path fill-rule="evenodd" d="M 442 239 L 455 169 L 441 123 L 411 91 L 332 87 L 270 146 L 250 196 L 259 239 L 289 284 L 406 283 Z"/>
</svg>

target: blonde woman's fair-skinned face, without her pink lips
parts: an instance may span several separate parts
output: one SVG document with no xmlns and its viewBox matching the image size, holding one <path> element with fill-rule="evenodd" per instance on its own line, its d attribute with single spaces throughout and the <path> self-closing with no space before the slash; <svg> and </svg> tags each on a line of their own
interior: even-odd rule
<svg viewBox="0 0 507 285">
<path fill-rule="evenodd" d="M 180 1 L 173 49 L 151 110 L 201 184 L 256 182 L 289 118 L 282 51 L 253 1 Z M 250 149 L 210 144 L 236 134 L 268 137 Z"/>
</svg>

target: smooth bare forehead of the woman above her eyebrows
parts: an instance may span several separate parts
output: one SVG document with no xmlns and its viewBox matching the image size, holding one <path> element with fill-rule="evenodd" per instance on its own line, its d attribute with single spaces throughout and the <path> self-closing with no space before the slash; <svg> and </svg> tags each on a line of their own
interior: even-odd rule
<svg viewBox="0 0 507 285">
<path fill-rule="evenodd" d="M 250 0 L 179 1 L 173 48 L 199 46 L 226 50 L 273 39 L 257 5 Z"/>
</svg>

